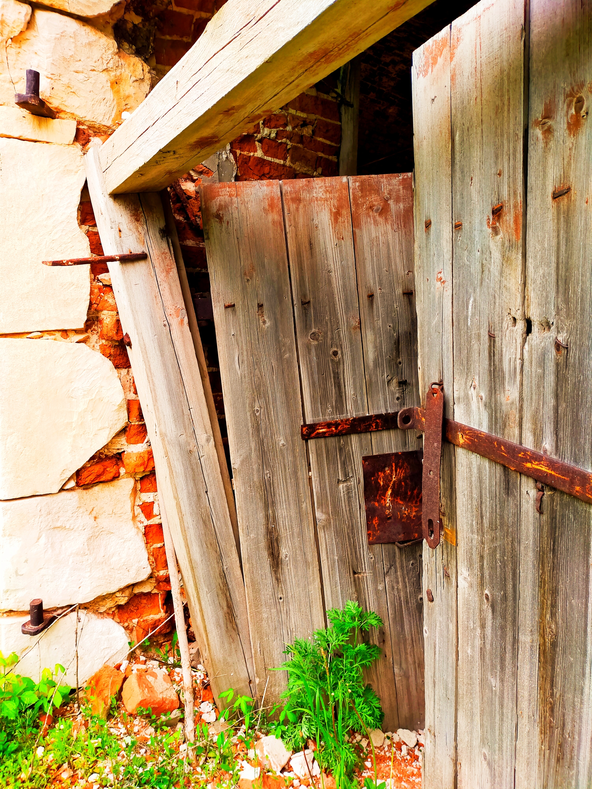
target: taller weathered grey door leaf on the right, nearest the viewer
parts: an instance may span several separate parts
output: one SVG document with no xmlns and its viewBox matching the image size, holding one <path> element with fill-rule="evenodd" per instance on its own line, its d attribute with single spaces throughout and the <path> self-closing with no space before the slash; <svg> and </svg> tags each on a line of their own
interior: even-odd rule
<svg viewBox="0 0 592 789">
<path fill-rule="evenodd" d="M 414 53 L 420 389 L 592 468 L 592 4 L 483 0 Z M 589 204 L 590 202 L 590 204 Z M 446 447 L 425 787 L 592 783 L 592 509 Z"/>
</svg>

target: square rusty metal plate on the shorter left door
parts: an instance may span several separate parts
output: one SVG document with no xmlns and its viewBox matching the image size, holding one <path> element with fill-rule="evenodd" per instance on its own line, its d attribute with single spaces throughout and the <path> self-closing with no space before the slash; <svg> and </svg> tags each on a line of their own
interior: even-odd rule
<svg viewBox="0 0 592 789">
<path fill-rule="evenodd" d="M 362 458 L 369 543 L 422 539 L 422 450 Z"/>
</svg>

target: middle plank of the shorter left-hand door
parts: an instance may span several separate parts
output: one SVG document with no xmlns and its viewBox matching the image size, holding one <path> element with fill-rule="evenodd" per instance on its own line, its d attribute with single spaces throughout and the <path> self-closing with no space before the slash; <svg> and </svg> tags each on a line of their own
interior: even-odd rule
<svg viewBox="0 0 592 789">
<path fill-rule="evenodd" d="M 368 413 L 347 178 L 283 182 L 284 218 L 305 420 Z M 369 682 L 384 726 L 399 725 L 384 558 L 366 535 L 362 456 L 368 433 L 309 442 L 325 603 L 357 600 L 384 628 Z"/>
</svg>

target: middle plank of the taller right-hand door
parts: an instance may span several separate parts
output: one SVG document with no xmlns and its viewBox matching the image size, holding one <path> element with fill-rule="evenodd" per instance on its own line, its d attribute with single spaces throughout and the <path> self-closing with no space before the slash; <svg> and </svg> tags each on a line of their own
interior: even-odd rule
<svg viewBox="0 0 592 789">
<path fill-rule="evenodd" d="M 451 25 L 450 66 L 455 419 L 516 443 L 524 21 L 523 0 L 478 3 Z M 467 451 L 455 457 L 458 785 L 513 787 L 519 477 Z"/>
</svg>

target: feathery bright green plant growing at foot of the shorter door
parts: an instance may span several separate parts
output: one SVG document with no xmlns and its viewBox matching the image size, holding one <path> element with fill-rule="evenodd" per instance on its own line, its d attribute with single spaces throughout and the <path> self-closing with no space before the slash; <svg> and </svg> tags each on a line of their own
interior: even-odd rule
<svg viewBox="0 0 592 789">
<path fill-rule="evenodd" d="M 321 769 L 332 770 L 337 787 L 348 787 L 359 758 L 348 732 L 378 728 L 384 718 L 380 700 L 363 676 L 380 656 L 380 647 L 362 640 L 382 620 L 351 600 L 327 616 L 331 626 L 317 630 L 311 641 L 294 641 L 286 650 L 290 660 L 276 669 L 287 671 L 288 686 L 274 731 L 294 750 L 313 739 Z"/>
</svg>

